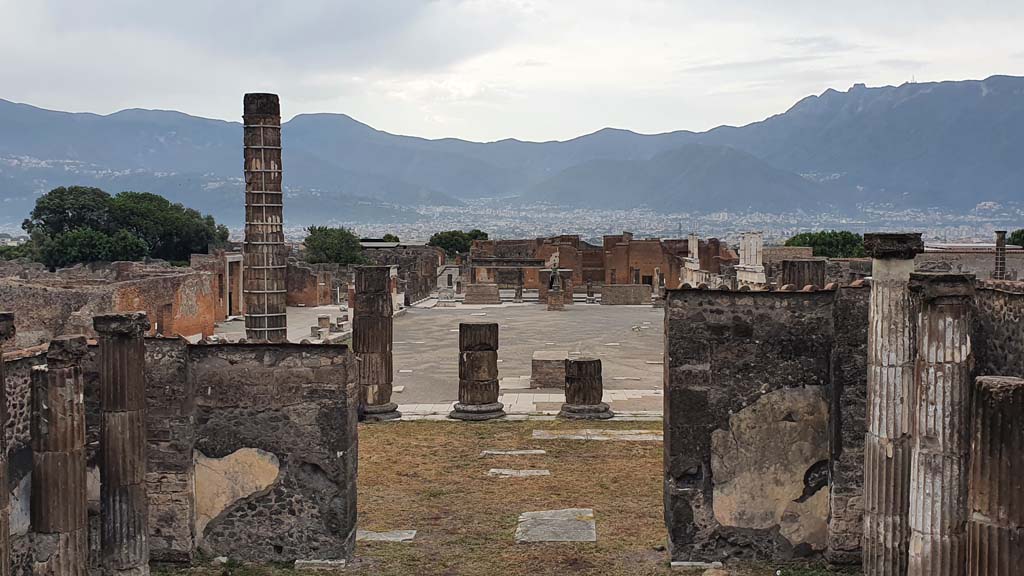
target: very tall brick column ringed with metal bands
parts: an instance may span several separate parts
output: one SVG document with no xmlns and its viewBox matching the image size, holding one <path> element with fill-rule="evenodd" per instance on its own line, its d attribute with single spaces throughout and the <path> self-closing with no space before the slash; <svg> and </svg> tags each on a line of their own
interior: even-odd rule
<svg viewBox="0 0 1024 576">
<path fill-rule="evenodd" d="M 284 342 L 288 340 L 288 248 L 281 181 L 281 102 L 276 94 L 246 94 L 244 107 L 246 338 Z"/>
</svg>

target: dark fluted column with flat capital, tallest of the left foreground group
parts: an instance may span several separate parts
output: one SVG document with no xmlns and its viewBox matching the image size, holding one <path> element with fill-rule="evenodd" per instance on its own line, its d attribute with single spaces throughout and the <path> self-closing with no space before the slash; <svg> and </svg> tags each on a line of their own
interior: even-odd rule
<svg viewBox="0 0 1024 576">
<path fill-rule="evenodd" d="M 150 573 L 145 488 L 145 313 L 93 319 L 99 334 L 99 560 L 105 574 Z"/>
</svg>

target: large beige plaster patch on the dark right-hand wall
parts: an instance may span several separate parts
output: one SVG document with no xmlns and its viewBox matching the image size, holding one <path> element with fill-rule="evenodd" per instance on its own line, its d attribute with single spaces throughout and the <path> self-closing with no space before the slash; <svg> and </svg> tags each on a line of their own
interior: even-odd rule
<svg viewBox="0 0 1024 576">
<path fill-rule="evenodd" d="M 715 519 L 777 529 L 815 550 L 828 536 L 828 407 L 820 388 L 768 393 L 712 434 Z"/>
</svg>

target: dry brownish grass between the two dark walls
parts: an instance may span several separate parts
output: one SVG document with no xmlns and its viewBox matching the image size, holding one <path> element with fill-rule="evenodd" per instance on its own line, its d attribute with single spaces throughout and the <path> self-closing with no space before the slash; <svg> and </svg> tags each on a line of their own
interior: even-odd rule
<svg viewBox="0 0 1024 576">
<path fill-rule="evenodd" d="M 662 444 L 536 441 L 536 428 L 570 422 L 398 422 L 359 427 L 359 528 L 415 529 L 410 543 L 359 542 L 350 575 L 680 575 L 669 568 L 662 517 Z M 657 422 L 591 427 L 660 429 Z M 484 449 L 544 449 L 540 456 L 481 458 Z M 550 477 L 496 479 L 489 468 L 547 468 Z M 590 507 L 596 543 L 516 544 L 519 512 Z M 775 574 L 777 567 L 730 567 Z M 255 576 L 290 570 L 231 566 Z M 201 569 L 199 572 L 214 572 Z M 700 574 L 699 571 L 693 574 Z M 813 567 L 782 574 L 825 574 Z"/>
</svg>

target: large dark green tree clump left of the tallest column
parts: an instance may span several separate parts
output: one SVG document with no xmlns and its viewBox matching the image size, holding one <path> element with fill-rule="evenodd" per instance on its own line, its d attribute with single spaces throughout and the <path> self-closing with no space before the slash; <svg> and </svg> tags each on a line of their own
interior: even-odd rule
<svg viewBox="0 0 1024 576">
<path fill-rule="evenodd" d="M 190 254 L 227 241 L 228 235 L 213 216 L 162 196 L 111 196 L 88 187 L 60 187 L 44 194 L 22 228 L 32 240 L 16 255 L 50 269 L 145 257 L 187 261 Z"/>
</svg>

